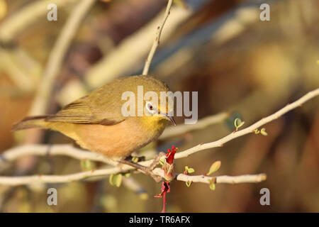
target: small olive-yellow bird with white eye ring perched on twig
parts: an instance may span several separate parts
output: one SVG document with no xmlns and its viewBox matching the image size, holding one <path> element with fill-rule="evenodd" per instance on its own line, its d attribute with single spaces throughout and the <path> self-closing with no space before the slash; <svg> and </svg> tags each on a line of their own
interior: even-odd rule
<svg viewBox="0 0 319 227">
<path fill-rule="evenodd" d="M 142 86 L 142 97 L 138 96 Z M 133 92 L 142 101 L 142 116 L 123 116 L 124 92 Z M 74 139 L 82 148 L 101 153 L 112 160 L 125 160 L 130 155 L 156 140 L 164 131 L 167 122 L 176 125 L 172 114 L 172 100 L 167 104 L 147 101 L 146 92 L 169 92 L 167 84 L 155 77 L 136 75 L 123 77 L 104 84 L 90 94 L 73 101 L 57 114 L 28 116 L 13 126 L 13 131 L 27 128 L 45 128 L 59 131 Z M 173 105 L 174 106 L 174 105 Z M 138 113 L 138 108 L 135 109 Z"/>
</svg>

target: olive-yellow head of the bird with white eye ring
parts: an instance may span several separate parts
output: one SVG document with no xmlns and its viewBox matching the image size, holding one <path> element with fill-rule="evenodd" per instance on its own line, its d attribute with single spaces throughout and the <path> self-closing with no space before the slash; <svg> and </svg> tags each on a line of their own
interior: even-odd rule
<svg viewBox="0 0 319 227">
<path fill-rule="evenodd" d="M 125 92 L 128 99 L 122 99 L 121 111 L 147 125 L 147 128 L 166 126 L 167 121 L 176 125 L 174 120 L 174 99 L 167 84 L 150 76 L 132 76 L 117 81 L 118 96 Z M 118 100 L 118 99 L 116 99 Z M 132 104 L 132 100 L 135 100 Z M 137 117 L 137 118 L 136 118 Z"/>
</svg>

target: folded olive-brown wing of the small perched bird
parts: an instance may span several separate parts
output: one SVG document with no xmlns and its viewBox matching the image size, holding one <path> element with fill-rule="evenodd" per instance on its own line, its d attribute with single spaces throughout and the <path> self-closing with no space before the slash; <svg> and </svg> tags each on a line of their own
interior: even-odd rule
<svg viewBox="0 0 319 227">
<path fill-rule="evenodd" d="M 94 108 L 88 96 L 72 102 L 65 106 L 57 114 L 48 116 L 45 121 L 59 121 L 67 123 L 95 123 L 105 126 L 111 126 L 125 120 L 125 117 L 120 113 L 108 113 L 103 110 L 102 106 Z"/>
</svg>

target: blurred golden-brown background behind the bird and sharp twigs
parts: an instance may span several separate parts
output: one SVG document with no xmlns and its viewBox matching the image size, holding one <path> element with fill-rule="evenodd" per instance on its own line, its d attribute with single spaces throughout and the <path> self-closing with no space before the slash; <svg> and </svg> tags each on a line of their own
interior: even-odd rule
<svg viewBox="0 0 319 227">
<path fill-rule="evenodd" d="M 47 20 L 50 3 L 57 5 L 57 21 Z M 270 21 L 259 19 L 262 3 L 270 6 Z M 78 4 L 79 0 L 0 0 L 0 153 L 26 143 L 74 143 L 50 131 L 13 134 L 11 127 L 30 113 L 55 113 L 113 79 L 141 74 L 167 1 L 95 1 L 60 56 L 61 64 L 50 69 L 58 37 Z M 172 91 L 198 92 L 198 118 L 223 112 L 229 117 L 159 139 L 143 150 L 166 151 L 171 145 L 185 150 L 217 140 L 234 131 L 235 118 L 250 126 L 318 88 L 318 9 L 318 0 L 175 0 L 149 74 L 167 82 Z M 47 105 L 39 110 L 36 97 L 43 91 Z M 220 160 L 215 175 L 264 172 L 267 180 L 217 184 L 215 191 L 208 184 L 186 187 L 174 181 L 167 211 L 319 212 L 318 104 L 318 98 L 312 99 L 268 123 L 268 136 L 245 135 L 223 148 L 177 160 L 177 172 L 187 165 L 202 175 Z M 177 118 L 178 125 L 183 123 Z M 99 167 L 101 163 L 70 157 L 24 156 L 2 162 L 0 175 L 67 175 Z M 138 190 L 125 182 L 134 182 Z M 50 187 L 57 189 L 57 206 L 47 205 Z M 264 187 L 270 191 L 270 206 L 259 204 Z M 68 184 L 0 185 L 0 211 L 159 212 L 162 199 L 154 198 L 159 192 L 160 184 L 140 174 L 125 179 L 121 187 L 111 186 L 107 177 Z"/>
</svg>

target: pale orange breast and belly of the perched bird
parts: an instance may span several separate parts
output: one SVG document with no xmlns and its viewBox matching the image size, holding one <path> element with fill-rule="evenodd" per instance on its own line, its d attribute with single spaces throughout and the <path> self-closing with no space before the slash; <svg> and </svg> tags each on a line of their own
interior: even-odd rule
<svg viewBox="0 0 319 227">
<path fill-rule="evenodd" d="M 164 130 L 164 124 L 154 130 L 142 126 L 134 118 L 127 118 L 113 126 L 63 123 L 61 127 L 61 123 L 55 123 L 50 128 L 73 138 L 84 149 L 118 160 L 155 140 Z"/>
</svg>

